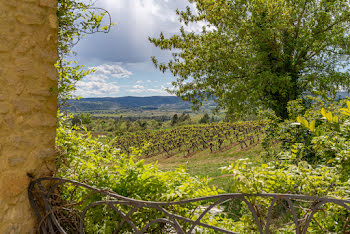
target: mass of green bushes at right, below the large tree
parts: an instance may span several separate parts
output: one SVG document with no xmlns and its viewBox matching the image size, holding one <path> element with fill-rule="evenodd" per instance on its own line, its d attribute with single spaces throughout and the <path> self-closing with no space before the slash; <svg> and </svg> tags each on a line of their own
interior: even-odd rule
<svg viewBox="0 0 350 234">
<path fill-rule="evenodd" d="M 266 152 L 261 155 L 262 161 L 238 160 L 223 168 L 225 173 L 233 175 L 229 192 L 350 199 L 350 102 L 344 108 L 344 101 L 325 103 L 315 99 L 305 105 L 297 100 L 290 103 L 289 109 L 291 119 L 283 122 L 271 112 L 262 113 L 269 121 L 263 141 Z M 280 144 L 280 150 L 271 152 L 273 144 Z M 261 199 L 258 202 L 263 204 L 259 207 L 262 212 L 266 212 L 270 201 Z M 305 215 L 303 210 L 298 212 Z M 238 206 L 237 213 L 236 224 L 242 227 L 238 231 L 249 230 L 246 227 L 256 231 L 254 221 L 245 215 L 244 204 Z M 345 217 L 349 215 L 336 205 L 324 206 L 315 216 L 319 224 L 313 223 L 309 231 L 321 233 L 325 229 L 341 233 L 346 225 Z M 272 223 L 288 226 L 287 220 L 291 217 L 282 217 Z"/>
</svg>

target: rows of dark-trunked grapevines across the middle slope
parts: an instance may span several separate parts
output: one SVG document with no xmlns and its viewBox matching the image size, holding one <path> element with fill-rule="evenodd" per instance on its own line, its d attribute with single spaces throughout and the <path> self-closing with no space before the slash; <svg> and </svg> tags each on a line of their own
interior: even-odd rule
<svg viewBox="0 0 350 234">
<path fill-rule="evenodd" d="M 238 144 L 244 149 L 260 141 L 264 126 L 263 122 L 246 121 L 142 131 L 116 138 L 114 146 L 127 154 L 132 153 L 133 148 L 143 149 L 145 157 L 182 153 L 190 156 L 207 149 L 213 153 Z"/>
</svg>

